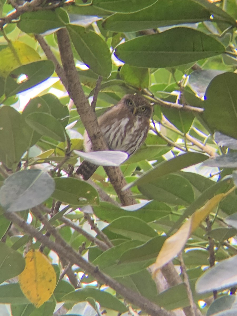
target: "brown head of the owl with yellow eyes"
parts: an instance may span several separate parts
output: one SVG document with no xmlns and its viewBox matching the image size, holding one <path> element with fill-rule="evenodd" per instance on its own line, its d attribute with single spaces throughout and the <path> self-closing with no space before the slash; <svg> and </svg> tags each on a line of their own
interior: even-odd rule
<svg viewBox="0 0 237 316">
<path fill-rule="evenodd" d="M 151 118 L 153 106 L 142 95 L 126 94 L 122 100 L 134 115 Z"/>
</svg>

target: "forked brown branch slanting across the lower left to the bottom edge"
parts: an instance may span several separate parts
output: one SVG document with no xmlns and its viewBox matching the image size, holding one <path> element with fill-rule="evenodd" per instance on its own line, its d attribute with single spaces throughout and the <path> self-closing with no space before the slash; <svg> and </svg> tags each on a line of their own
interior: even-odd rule
<svg viewBox="0 0 237 316">
<path fill-rule="evenodd" d="M 39 210 L 36 211 L 36 214 L 37 217 L 39 215 L 40 220 L 42 220 L 45 225 L 45 228 L 50 231 L 50 233 L 57 239 L 57 241 L 53 242 L 52 240 L 49 240 L 37 229 L 28 225 L 24 219 L 22 219 L 19 215 L 15 213 L 5 213 L 5 216 L 14 224 L 18 225 L 18 227 L 20 227 L 24 232 L 32 237 L 35 237 L 40 242 L 44 243 L 45 246 L 58 253 L 59 257 L 67 258 L 72 264 L 77 264 L 87 273 L 94 276 L 96 280 L 98 280 L 102 284 L 107 284 L 112 289 L 117 291 L 120 295 L 124 296 L 127 301 L 130 301 L 132 304 L 140 307 L 143 311 L 150 314 L 151 316 L 174 316 L 173 312 L 168 312 L 164 310 L 163 308 L 144 298 L 139 293 L 131 291 L 131 289 L 126 288 L 124 285 L 118 283 L 110 276 L 102 273 L 98 269 L 98 267 L 86 261 L 80 254 L 78 254 L 72 247 L 70 247 L 58 234 L 56 229 L 50 225 L 47 219 L 40 214 Z"/>
</svg>

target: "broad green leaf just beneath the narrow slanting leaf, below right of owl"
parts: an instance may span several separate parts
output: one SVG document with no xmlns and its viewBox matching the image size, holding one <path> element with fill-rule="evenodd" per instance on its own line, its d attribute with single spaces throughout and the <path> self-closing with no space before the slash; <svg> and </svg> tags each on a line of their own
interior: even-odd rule
<svg viewBox="0 0 237 316">
<path fill-rule="evenodd" d="M 151 183 L 138 185 L 149 199 L 174 205 L 189 205 L 194 201 L 194 193 L 190 182 L 177 175 L 168 174 Z"/>
</svg>

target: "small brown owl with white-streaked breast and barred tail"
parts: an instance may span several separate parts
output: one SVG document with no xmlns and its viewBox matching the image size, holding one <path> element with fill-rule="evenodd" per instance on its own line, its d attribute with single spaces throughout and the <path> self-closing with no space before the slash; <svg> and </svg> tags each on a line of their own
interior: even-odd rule
<svg viewBox="0 0 237 316">
<path fill-rule="evenodd" d="M 149 131 L 153 106 L 139 94 L 126 94 L 115 106 L 110 107 L 98 118 L 104 139 L 110 150 L 134 154 L 144 143 Z M 93 151 L 87 132 L 84 134 L 86 152 Z M 76 170 L 88 180 L 98 166 L 83 161 Z"/>
</svg>

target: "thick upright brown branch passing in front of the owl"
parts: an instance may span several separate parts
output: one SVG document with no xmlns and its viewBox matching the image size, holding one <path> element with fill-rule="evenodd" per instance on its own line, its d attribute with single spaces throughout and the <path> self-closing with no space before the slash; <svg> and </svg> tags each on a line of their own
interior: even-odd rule
<svg viewBox="0 0 237 316">
<path fill-rule="evenodd" d="M 73 100 L 77 112 L 80 115 L 82 122 L 88 132 L 94 150 L 107 150 L 107 145 L 102 137 L 94 111 L 89 105 L 88 99 L 82 89 L 73 54 L 70 46 L 70 39 L 66 29 L 60 29 L 57 32 L 58 47 L 61 60 L 64 67 L 64 72 L 68 81 L 68 92 Z M 106 167 L 106 173 L 110 179 L 114 190 L 123 205 L 136 204 L 135 199 L 131 196 L 130 190 L 122 191 L 126 185 L 126 181 L 119 167 Z"/>
</svg>

